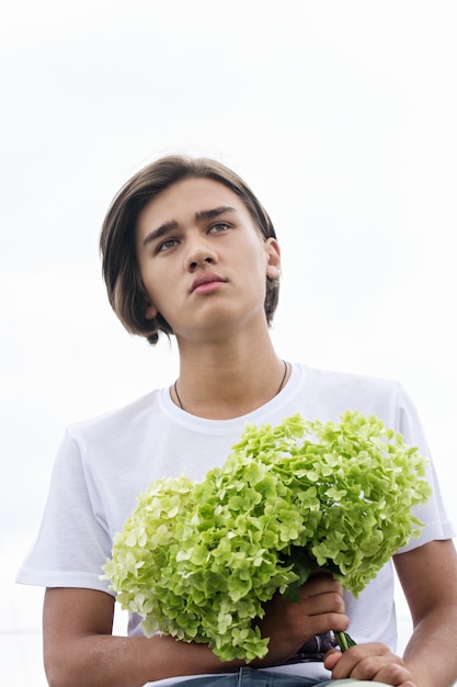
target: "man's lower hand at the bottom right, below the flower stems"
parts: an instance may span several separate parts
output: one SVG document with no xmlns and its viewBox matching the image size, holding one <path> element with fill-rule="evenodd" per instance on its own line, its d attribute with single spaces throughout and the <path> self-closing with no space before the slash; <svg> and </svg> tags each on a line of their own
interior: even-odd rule
<svg viewBox="0 0 457 687">
<path fill-rule="evenodd" d="M 344 653 L 336 650 L 329 651 L 324 666 L 332 672 L 332 679 L 351 677 L 385 683 L 395 687 L 416 687 L 403 660 L 380 643 L 357 644 Z"/>
</svg>

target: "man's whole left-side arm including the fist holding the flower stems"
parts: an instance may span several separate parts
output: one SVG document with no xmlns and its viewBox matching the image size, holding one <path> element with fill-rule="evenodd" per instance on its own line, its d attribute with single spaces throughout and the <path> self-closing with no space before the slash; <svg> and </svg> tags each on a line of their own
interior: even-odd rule
<svg viewBox="0 0 457 687">
<path fill-rule="evenodd" d="M 341 584 L 316 575 L 300 589 L 301 602 L 276 595 L 261 622 L 270 637 L 269 654 L 255 667 L 287 661 L 310 638 L 345 630 Z M 242 661 L 222 663 L 206 644 L 170 637 L 113 637 L 114 599 L 91 589 L 47 589 L 44 605 L 44 653 L 52 687 L 141 687 L 176 675 L 229 673 Z"/>
</svg>

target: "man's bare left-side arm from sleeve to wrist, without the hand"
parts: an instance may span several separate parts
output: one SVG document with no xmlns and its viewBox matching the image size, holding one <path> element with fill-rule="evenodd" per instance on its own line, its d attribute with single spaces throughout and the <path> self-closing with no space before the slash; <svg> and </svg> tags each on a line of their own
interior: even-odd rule
<svg viewBox="0 0 457 687">
<path fill-rule="evenodd" d="M 47 589 L 44 661 L 50 687 L 141 687 L 171 675 L 229 672 L 204 644 L 113 637 L 114 599 L 92 589 Z"/>
</svg>

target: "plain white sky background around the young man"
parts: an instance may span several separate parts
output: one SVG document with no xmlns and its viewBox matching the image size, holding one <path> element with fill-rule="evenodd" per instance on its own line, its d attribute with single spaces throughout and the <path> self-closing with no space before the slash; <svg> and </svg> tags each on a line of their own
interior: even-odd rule
<svg viewBox="0 0 457 687">
<path fill-rule="evenodd" d="M 163 154 L 252 185 L 283 247 L 278 353 L 400 379 L 457 521 L 456 35 L 452 0 L 2 3 L 5 684 L 46 684 L 42 592 L 13 579 L 65 427 L 178 373 L 117 323 L 98 256 L 112 196 Z"/>
</svg>

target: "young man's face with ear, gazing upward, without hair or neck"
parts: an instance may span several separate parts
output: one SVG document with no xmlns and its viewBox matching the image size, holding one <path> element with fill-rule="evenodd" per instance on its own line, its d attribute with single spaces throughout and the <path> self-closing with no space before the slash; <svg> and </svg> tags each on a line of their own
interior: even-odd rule
<svg viewBox="0 0 457 687">
<path fill-rule="evenodd" d="M 208 340 L 265 319 L 279 249 L 224 184 L 191 178 L 165 189 L 138 217 L 136 250 L 146 316 L 160 313 L 178 339 Z"/>
</svg>

